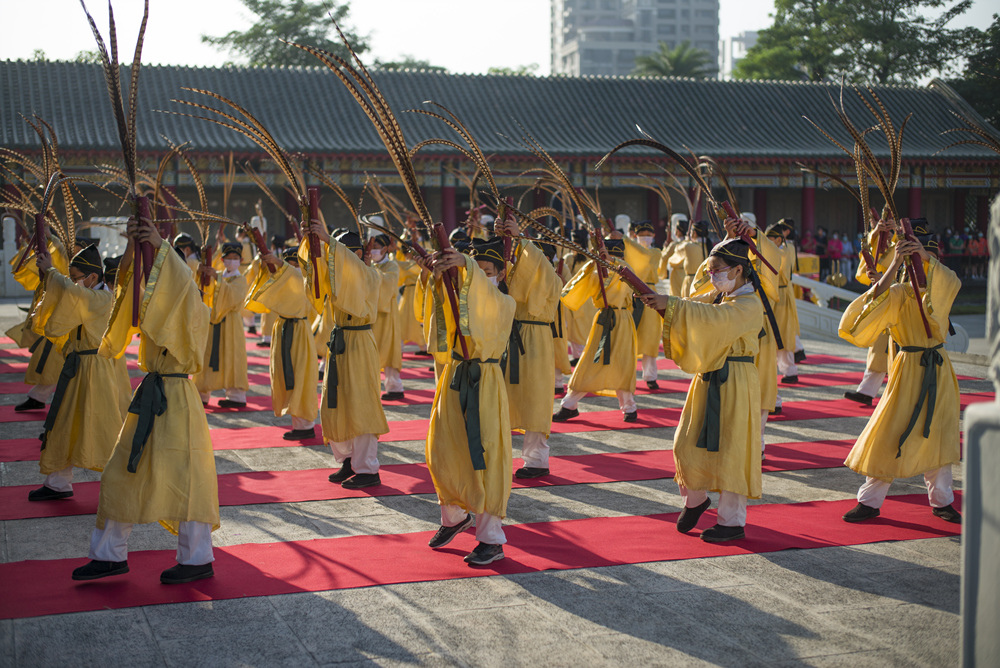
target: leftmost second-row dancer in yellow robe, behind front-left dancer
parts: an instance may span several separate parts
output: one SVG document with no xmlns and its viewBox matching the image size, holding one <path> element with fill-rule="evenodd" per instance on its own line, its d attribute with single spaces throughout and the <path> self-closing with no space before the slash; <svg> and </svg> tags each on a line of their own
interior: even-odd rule
<svg viewBox="0 0 1000 668">
<path fill-rule="evenodd" d="M 42 274 L 43 297 L 32 312 L 32 326 L 42 336 L 61 339 L 66 358 L 42 431 L 39 469 L 42 487 L 29 501 L 73 496 L 73 467 L 102 471 L 125 421 L 128 377 L 97 348 L 111 315 L 113 297 L 104 289 L 104 264 L 97 246 L 77 253 L 69 276 L 52 267 L 51 256 L 35 258 Z"/>
</svg>

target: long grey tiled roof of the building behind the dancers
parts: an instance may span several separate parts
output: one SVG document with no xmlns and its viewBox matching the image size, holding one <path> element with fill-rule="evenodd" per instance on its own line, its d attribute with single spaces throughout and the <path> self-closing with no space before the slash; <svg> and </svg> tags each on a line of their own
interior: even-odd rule
<svg viewBox="0 0 1000 668">
<path fill-rule="evenodd" d="M 520 122 L 547 150 L 563 156 L 599 157 L 618 142 L 638 136 L 636 123 L 677 150 L 688 146 L 717 158 L 816 160 L 843 155 L 802 118 L 807 114 L 824 128 L 839 129 L 828 97 L 838 95 L 837 85 L 423 71 L 377 72 L 375 77 L 397 112 L 427 99 L 449 106 L 487 153 L 525 154 L 516 141 Z M 171 98 L 203 97 L 182 91 L 182 86 L 205 88 L 239 102 L 293 152 L 384 151 L 360 107 L 325 69 L 174 66 L 142 69 L 140 151 L 163 150 L 166 144 L 160 135 L 165 135 L 174 141 L 191 141 L 192 149 L 198 151 L 256 152 L 249 140 L 225 128 L 154 111 L 183 111 Z M 976 146 L 935 155 L 954 141 L 954 135 L 942 137 L 940 133 L 957 125 L 949 113 L 957 107 L 940 91 L 904 86 L 877 90 L 896 123 L 913 113 L 903 140 L 904 158 L 997 160 L 995 154 Z M 853 94 L 846 94 L 846 99 L 857 123 L 869 118 Z M 66 150 L 116 149 L 116 131 L 98 65 L 0 62 L 0 145 L 35 145 L 34 134 L 18 116 L 31 113 L 55 126 Z M 399 117 L 410 145 L 431 136 L 450 136 L 432 119 L 414 114 Z M 843 130 L 835 136 L 848 141 Z M 877 137 L 871 143 L 884 145 Z"/>
</svg>

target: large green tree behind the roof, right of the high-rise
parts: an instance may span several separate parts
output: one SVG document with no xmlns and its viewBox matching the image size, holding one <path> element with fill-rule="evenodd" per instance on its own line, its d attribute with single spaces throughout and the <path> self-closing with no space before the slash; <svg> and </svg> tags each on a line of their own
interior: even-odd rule
<svg viewBox="0 0 1000 668">
<path fill-rule="evenodd" d="M 971 0 L 776 0 L 736 67 L 744 79 L 916 83 L 954 71 L 975 36 L 948 28 Z M 936 14 L 932 16 L 932 14 Z"/>
</svg>

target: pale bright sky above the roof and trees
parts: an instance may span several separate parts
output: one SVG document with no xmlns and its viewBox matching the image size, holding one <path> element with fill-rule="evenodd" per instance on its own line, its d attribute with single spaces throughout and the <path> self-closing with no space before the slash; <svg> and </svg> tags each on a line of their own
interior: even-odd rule
<svg viewBox="0 0 1000 668">
<path fill-rule="evenodd" d="M 72 60 L 94 48 L 79 0 L 0 0 L 3 37 L 0 59 L 32 57 L 42 49 L 51 60 Z M 452 72 L 482 73 L 491 66 L 538 63 L 549 72 L 548 0 L 352 0 L 349 23 L 371 37 L 366 60 L 395 60 L 404 54 Z M 131 60 L 141 18 L 139 0 L 115 0 L 119 43 Z M 107 5 L 88 2 L 107 38 Z M 773 0 L 721 0 L 723 38 L 770 24 Z M 985 28 L 997 0 L 975 0 L 954 25 Z M 201 43 L 203 33 L 222 35 L 250 25 L 239 0 L 150 0 L 144 63 L 221 65 L 228 54 Z"/>
</svg>

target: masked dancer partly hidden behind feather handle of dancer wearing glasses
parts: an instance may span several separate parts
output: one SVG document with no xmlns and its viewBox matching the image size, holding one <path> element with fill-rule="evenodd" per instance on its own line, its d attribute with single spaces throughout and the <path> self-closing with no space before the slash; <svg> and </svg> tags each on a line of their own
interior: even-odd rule
<svg viewBox="0 0 1000 668">
<path fill-rule="evenodd" d="M 656 271 L 660 262 L 660 249 L 653 248 L 653 224 L 648 220 L 633 223 L 625 239 L 625 263 L 646 285 L 655 290 Z M 663 318 L 639 301 L 632 301 L 632 319 L 635 320 L 636 352 L 642 363 L 642 380 L 651 390 L 660 389 L 656 382 L 656 358 L 660 356 L 660 333 Z"/>
</svg>

